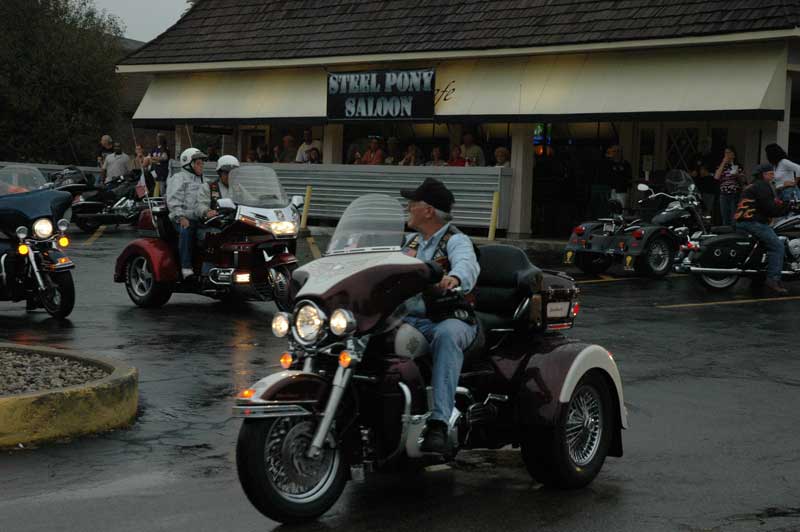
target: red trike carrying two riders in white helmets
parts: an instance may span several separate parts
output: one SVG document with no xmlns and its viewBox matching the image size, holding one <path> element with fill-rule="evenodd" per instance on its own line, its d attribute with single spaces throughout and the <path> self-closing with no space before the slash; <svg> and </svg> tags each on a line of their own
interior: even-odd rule
<svg viewBox="0 0 800 532">
<path fill-rule="evenodd" d="M 163 198 L 150 198 L 139 218 L 143 238 L 117 258 L 114 281 L 125 283 L 141 307 L 160 307 L 174 292 L 223 301 L 274 301 L 292 307 L 292 271 L 297 267 L 297 226 L 302 197 L 290 201 L 275 171 L 242 167 L 229 177 L 230 198 L 218 201 L 218 216 L 198 229 L 193 269 L 182 279 L 178 235 Z"/>
</svg>

